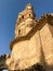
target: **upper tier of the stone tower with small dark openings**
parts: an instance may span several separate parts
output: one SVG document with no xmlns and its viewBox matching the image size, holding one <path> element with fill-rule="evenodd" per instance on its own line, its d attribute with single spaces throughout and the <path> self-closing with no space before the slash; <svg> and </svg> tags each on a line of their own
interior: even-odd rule
<svg viewBox="0 0 53 71">
<path fill-rule="evenodd" d="M 24 11 L 19 12 L 17 16 L 16 24 L 19 25 L 22 22 L 26 21 L 27 19 L 35 19 L 36 14 L 34 12 L 34 8 L 30 3 L 28 3 Z"/>
</svg>

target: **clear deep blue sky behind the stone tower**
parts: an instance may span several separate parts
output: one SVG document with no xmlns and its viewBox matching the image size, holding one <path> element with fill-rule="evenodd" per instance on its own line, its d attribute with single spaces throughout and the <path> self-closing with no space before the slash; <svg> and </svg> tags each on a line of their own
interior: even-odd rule
<svg viewBox="0 0 53 71">
<path fill-rule="evenodd" d="M 34 5 L 37 17 L 53 13 L 53 0 L 0 0 L 0 55 L 11 54 L 10 43 L 14 39 L 17 14 L 27 3 Z"/>
</svg>

